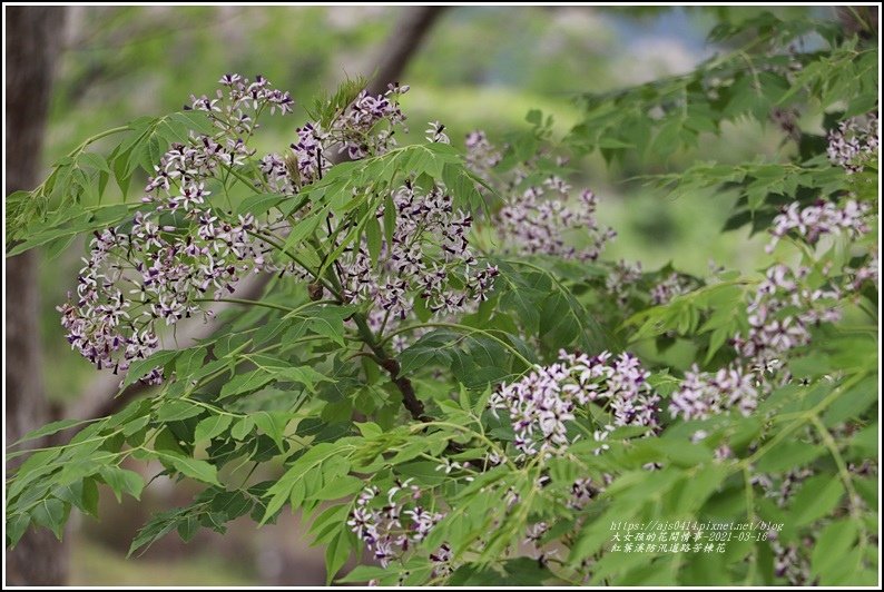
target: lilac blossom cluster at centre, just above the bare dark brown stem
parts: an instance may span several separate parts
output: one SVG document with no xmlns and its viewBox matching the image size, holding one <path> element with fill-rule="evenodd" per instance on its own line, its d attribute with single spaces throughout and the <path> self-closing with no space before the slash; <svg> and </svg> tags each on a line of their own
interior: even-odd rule
<svg viewBox="0 0 884 592">
<path fill-rule="evenodd" d="M 414 294 L 440 315 L 488 299 L 498 269 L 479 265 L 468 240 L 472 217 L 453 207 L 443 187 L 424 190 L 406 181 L 392 194 L 392 205 L 395 227 L 389 241 L 381 239 L 377 260 L 367 239 L 338 259 L 345 298 L 377 304 L 383 316 L 373 318 L 381 325 L 384 319 L 404 319 L 414 306 Z M 379 224 L 385 207 L 377 210 Z"/>
</svg>

